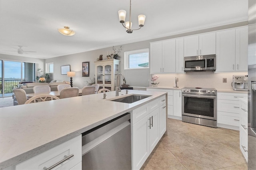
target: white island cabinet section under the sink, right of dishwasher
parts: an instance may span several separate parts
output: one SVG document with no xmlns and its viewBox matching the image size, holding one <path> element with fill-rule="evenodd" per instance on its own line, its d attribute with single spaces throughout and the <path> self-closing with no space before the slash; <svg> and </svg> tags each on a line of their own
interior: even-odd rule
<svg viewBox="0 0 256 170">
<path fill-rule="evenodd" d="M 150 103 L 132 111 L 132 115 L 145 115 L 146 108 L 149 108 L 148 115 L 139 121 L 132 121 L 132 169 L 142 167 L 160 138 L 166 131 L 166 96 L 162 96 Z M 158 106 L 156 107 L 156 103 Z M 141 109 L 144 108 L 144 109 Z M 165 111 L 164 111 L 165 110 Z M 142 114 L 139 114 L 139 113 Z"/>
</svg>

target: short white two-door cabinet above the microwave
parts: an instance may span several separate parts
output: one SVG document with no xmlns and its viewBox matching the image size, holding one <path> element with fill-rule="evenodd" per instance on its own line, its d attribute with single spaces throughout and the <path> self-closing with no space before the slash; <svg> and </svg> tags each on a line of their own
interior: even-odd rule
<svg viewBox="0 0 256 170">
<path fill-rule="evenodd" d="M 216 53 L 216 33 L 200 34 L 184 38 L 184 57 Z"/>
</svg>

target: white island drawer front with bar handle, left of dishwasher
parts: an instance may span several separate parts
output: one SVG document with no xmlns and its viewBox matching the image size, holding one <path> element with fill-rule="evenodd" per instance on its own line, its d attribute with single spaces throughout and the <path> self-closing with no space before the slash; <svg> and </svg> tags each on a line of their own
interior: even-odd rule
<svg viewBox="0 0 256 170">
<path fill-rule="evenodd" d="M 82 169 L 82 135 L 17 164 L 16 170 L 43 170 L 52 166 L 58 170 Z"/>
</svg>

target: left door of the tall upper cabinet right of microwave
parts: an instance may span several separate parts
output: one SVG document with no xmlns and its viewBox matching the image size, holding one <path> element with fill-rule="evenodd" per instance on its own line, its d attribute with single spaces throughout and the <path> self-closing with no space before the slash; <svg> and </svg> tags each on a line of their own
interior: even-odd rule
<svg viewBox="0 0 256 170">
<path fill-rule="evenodd" d="M 216 33 L 216 71 L 235 71 L 235 29 Z"/>
</svg>

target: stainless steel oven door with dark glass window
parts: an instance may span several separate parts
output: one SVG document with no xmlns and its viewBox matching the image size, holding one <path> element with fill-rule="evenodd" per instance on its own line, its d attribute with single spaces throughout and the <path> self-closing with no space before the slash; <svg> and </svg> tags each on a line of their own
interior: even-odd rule
<svg viewBox="0 0 256 170">
<path fill-rule="evenodd" d="M 182 94 L 182 115 L 217 120 L 216 106 L 216 96 Z"/>
</svg>

